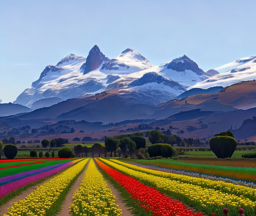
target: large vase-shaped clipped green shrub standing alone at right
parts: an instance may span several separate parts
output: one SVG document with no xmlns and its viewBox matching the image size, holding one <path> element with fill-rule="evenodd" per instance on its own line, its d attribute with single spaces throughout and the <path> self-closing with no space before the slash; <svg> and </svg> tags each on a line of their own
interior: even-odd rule
<svg viewBox="0 0 256 216">
<path fill-rule="evenodd" d="M 216 136 L 210 138 L 210 149 L 218 158 L 231 157 L 236 146 L 236 140 L 230 136 Z"/>
</svg>

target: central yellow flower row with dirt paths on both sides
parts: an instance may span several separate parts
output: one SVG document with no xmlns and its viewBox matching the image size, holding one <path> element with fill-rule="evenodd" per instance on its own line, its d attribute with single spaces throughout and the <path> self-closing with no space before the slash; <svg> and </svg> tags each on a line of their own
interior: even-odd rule
<svg viewBox="0 0 256 216">
<path fill-rule="evenodd" d="M 90 160 L 81 186 L 74 193 L 74 203 L 69 206 L 72 215 L 120 216 L 121 209 L 94 161 Z"/>
</svg>

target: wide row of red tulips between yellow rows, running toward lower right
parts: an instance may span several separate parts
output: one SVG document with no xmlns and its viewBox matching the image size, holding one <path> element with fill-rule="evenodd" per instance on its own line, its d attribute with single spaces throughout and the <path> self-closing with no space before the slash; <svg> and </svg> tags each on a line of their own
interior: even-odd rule
<svg viewBox="0 0 256 216">
<path fill-rule="evenodd" d="M 120 186 L 124 187 L 126 191 L 135 200 L 139 200 L 140 205 L 146 211 L 153 211 L 153 216 L 202 216 L 200 213 L 193 213 L 191 209 L 188 209 L 183 203 L 178 200 L 173 200 L 170 197 L 160 193 L 154 187 L 148 187 L 138 180 L 126 176 L 101 161 L 97 160 L 98 165 L 109 176 L 117 181 Z"/>
</svg>

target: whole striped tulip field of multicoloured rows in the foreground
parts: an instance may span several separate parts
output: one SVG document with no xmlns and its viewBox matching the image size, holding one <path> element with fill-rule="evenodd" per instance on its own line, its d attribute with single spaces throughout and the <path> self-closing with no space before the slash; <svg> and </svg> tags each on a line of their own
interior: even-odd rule
<svg viewBox="0 0 256 216">
<path fill-rule="evenodd" d="M 225 170 L 221 166 L 165 159 L 0 161 L 0 215 L 3 216 L 60 215 L 62 204 L 67 202 L 65 199 L 77 181 L 72 199 L 65 203 L 69 207 L 65 215 L 256 215 L 254 168 Z M 22 191 L 29 189 L 22 197 Z M 117 194 L 122 200 L 116 199 Z M 14 202 L 16 196 L 21 198 Z M 122 209 L 120 202 L 130 210 Z M 8 209 L 2 210 L 1 206 L 6 205 Z"/>
</svg>

